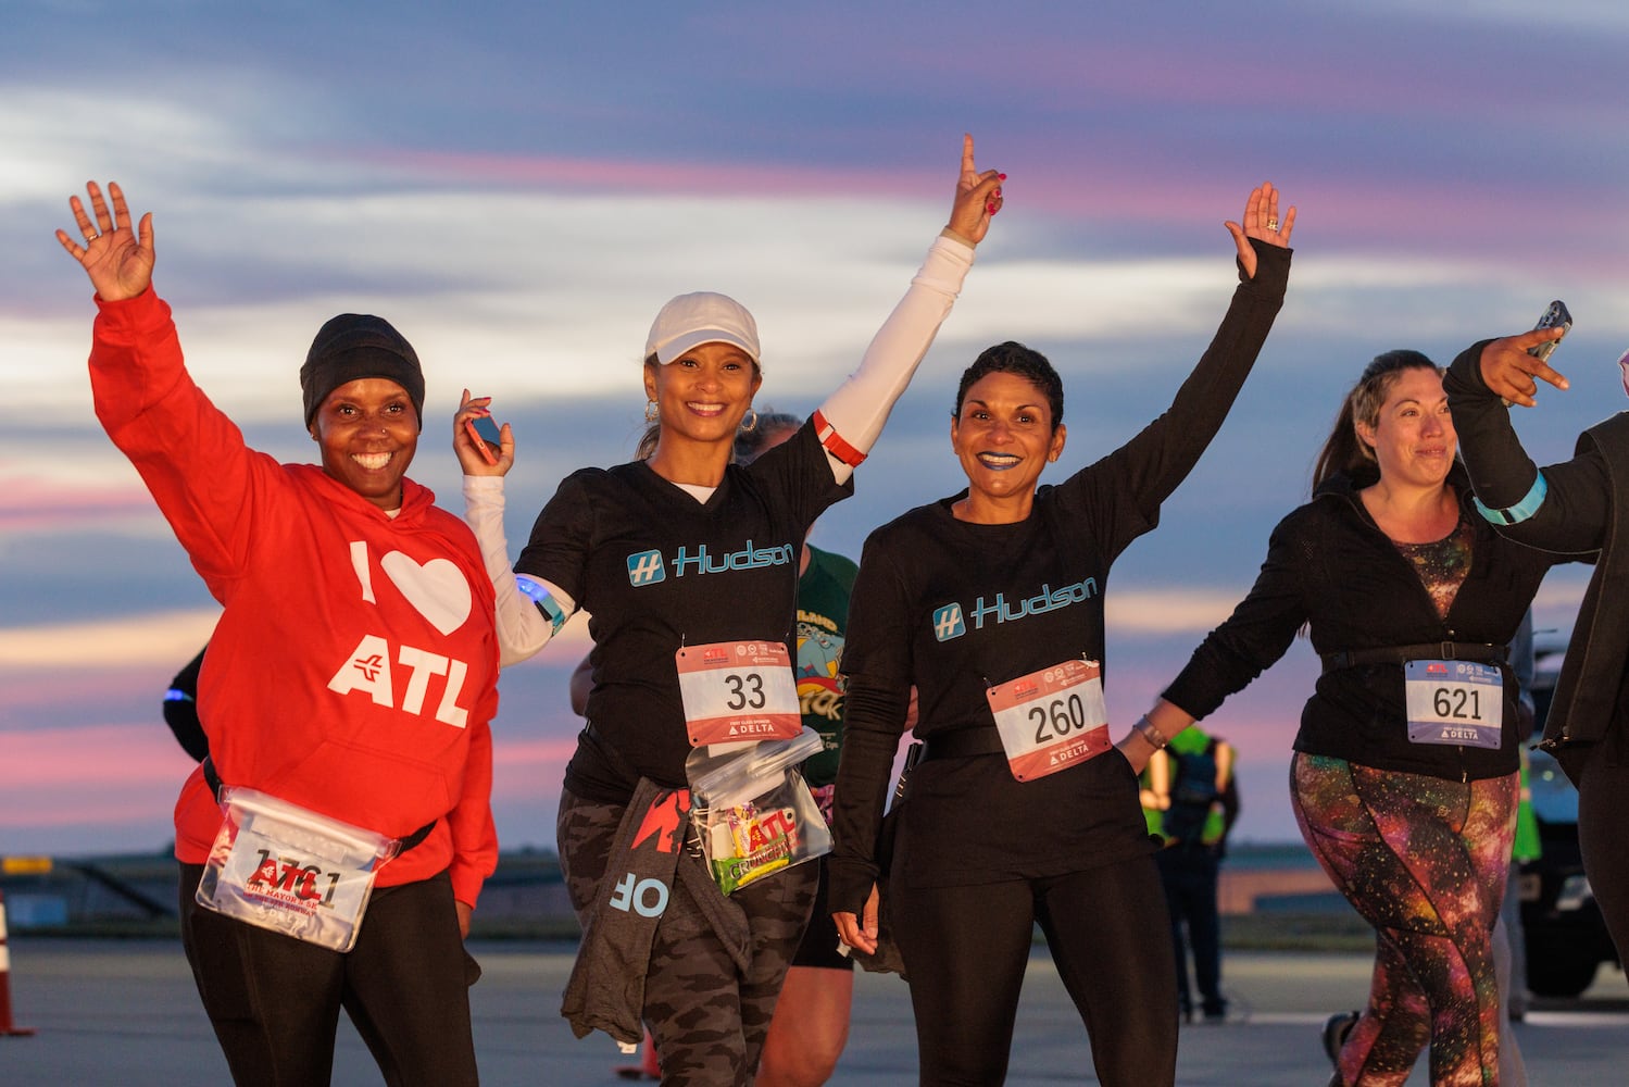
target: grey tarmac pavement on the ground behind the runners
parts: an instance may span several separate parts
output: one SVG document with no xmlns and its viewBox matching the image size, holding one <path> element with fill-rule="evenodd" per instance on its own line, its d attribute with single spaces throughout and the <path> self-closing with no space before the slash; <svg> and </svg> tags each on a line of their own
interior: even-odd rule
<svg viewBox="0 0 1629 1087">
<path fill-rule="evenodd" d="M 199 1007 L 179 944 L 11 937 L 11 1006 L 34 1036 L 0 1036 L 3 1087 L 178 1087 L 226 1084 L 226 1066 Z M 482 1082 L 598 1087 L 627 1082 L 604 1035 L 577 1040 L 559 1015 L 575 947 L 474 942 L 484 975 L 472 989 Z M 1236 1015 L 1183 1028 L 1183 1087 L 1321 1087 L 1329 1063 L 1318 1035 L 1336 1010 L 1362 1004 L 1370 962 L 1350 953 L 1227 952 Z M 1629 984 L 1601 968 L 1580 1001 L 1541 1001 L 1517 1027 L 1538 1087 L 1629 1084 Z M 849 1048 L 834 1084 L 914 1084 L 915 1033 L 898 978 L 858 975 Z M 367 1048 L 342 1023 L 334 1084 L 381 1084 Z M 1008 1084 L 1096 1084 L 1091 1053 L 1044 947 L 1025 983 Z M 1416 1069 L 1411 1085 L 1429 1077 Z"/>
</svg>

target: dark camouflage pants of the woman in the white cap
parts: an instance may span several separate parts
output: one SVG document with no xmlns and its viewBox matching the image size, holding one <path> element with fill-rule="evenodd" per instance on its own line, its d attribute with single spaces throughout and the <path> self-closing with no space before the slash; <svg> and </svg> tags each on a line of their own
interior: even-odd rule
<svg viewBox="0 0 1629 1087">
<path fill-rule="evenodd" d="M 560 869 L 578 918 L 598 898 L 622 812 L 621 803 L 582 800 L 570 790 L 560 794 L 555 826 Z M 656 1040 L 663 1084 L 753 1082 L 775 997 L 808 924 L 816 877 L 818 865 L 800 864 L 731 895 L 746 911 L 753 934 L 753 965 L 744 976 L 684 883 L 674 882 L 645 975 L 643 1019 Z"/>
</svg>

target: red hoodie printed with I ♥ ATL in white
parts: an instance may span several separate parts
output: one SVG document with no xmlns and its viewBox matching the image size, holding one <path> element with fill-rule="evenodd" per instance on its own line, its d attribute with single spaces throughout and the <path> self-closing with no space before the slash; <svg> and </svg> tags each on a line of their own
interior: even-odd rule
<svg viewBox="0 0 1629 1087">
<path fill-rule="evenodd" d="M 378 885 L 451 867 L 474 906 L 497 864 L 498 647 L 469 528 L 411 479 L 391 518 L 321 468 L 248 448 L 151 288 L 98 306 L 96 417 L 223 606 L 197 699 L 222 781 L 397 838 L 435 821 Z M 202 864 L 220 820 L 194 772 L 176 857 Z"/>
</svg>

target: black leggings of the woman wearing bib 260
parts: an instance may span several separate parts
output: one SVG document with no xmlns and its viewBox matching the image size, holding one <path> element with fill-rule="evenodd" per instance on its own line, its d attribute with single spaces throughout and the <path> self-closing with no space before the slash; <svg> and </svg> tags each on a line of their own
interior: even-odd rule
<svg viewBox="0 0 1629 1087">
<path fill-rule="evenodd" d="M 1000 1084 L 1034 924 L 1080 1010 L 1104 1087 L 1176 1079 L 1171 931 L 1153 859 L 977 887 L 889 885 L 922 1084 Z"/>
</svg>

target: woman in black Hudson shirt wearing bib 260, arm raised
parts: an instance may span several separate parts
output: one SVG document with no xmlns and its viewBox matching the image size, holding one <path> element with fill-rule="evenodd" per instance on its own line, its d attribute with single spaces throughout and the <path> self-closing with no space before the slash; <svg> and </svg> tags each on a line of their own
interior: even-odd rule
<svg viewBox="0 0 1629 1087">
<path fill-rule="evenodd" d="M 914 686 L 925 750 L 888 893 L 924 1084 L 1005 1077 L 1036 921 L 1098 1077 L 1158 1087 L 1175 1076 L 1165 898 L 1137 774 L 1109 750 L 1103 707 L 1103 585 L 1158 523 L 1272 328 L 1295 218 L 1290 209 L 1280 230 L 1277 199 L 1261 186 L 1243 227 L 1227 225 L 1241 282 L 1163 416 L 1038 489 L 1064 451 L 1062 380 L 1021 344 L 990 347 L 963 375 L 950 427 L 968 489 L 865 543 L 844 647 L 831 904 L 842 939 L 875 952 L 873 844 Z"/>
</svg>

